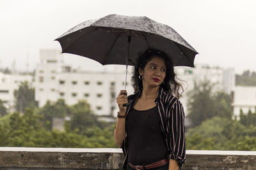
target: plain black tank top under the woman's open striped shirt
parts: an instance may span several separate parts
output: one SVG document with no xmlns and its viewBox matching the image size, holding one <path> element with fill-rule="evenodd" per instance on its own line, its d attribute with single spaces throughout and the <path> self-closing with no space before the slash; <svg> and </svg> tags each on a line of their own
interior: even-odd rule
<svg viewBox="0 0 256 170">
<path fill-rule="evenodd" d="M 150 164 L 167 158 L 168 151 L 157 114 L 157 107 L 143 111 L 132 108 L 126 118 L 129 163 Z"/>
</svg>

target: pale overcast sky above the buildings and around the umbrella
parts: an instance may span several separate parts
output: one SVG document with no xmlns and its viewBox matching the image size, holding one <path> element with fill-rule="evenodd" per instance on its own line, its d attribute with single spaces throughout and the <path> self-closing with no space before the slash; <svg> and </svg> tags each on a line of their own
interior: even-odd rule
<svg viewBox="0 0 256 170">
<path fill-rule="evenodd" d="M 39 50 L 58 49 L 53 41 L 86 20 L 109 14 L 147 16 L 170 25 L 199 55 L 195 64 L 256 71 L 255 0 L 0 0 L 0 66 L 33 70 Z M 65 54 L 65 62 L 100 70 L 97 62 Z"/>
</svg>

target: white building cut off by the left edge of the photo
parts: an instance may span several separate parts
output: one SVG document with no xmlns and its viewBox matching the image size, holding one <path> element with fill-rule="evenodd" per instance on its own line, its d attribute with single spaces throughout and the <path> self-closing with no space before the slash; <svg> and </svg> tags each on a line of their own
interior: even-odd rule
<svg viewBox="0 0 256 170">
<path fill-rule="evenodd" d="M 0 100 L 6 108 L 13 111 L 15 106 L 14 90 L 19 89 L 20 82 L 28 81 L 33 86 L 33 76 L 29 74 L 4 74 L 0 72 Z"/>
</svg>

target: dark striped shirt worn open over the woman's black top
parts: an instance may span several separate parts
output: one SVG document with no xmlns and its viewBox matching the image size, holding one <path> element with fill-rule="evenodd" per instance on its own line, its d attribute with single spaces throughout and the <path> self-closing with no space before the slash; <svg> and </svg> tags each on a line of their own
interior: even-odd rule
<svg viewBox="0 0 256 170">
<path fill-rule="evenodd" d="M 136 104 L 140 94 L 141 91 L 128 97 L 128 101 L 131 101 L 131 104 L 127 106 L 127 114 L 130 113 L 131 108 Z M 155 103 L 157 112 L 159 113 L 159 122 L 163 132 L 164 141 L 166 142 L 169 153 L 168 158 L 176 160 L 180 167 L 186 159 L 186 139 L 184 129 L 185 114 L 182 104 L 177 97 L 174 97 L 166 90 L 163 90 L 162 87 L 159 87 Z M 125 155 L 123 168 L 125 168 L 127 164 L 127 153 L 129 152 L 127 148 L 128 141 L 126 132 L 122 145 L 122 150 Z"/>
</svg>

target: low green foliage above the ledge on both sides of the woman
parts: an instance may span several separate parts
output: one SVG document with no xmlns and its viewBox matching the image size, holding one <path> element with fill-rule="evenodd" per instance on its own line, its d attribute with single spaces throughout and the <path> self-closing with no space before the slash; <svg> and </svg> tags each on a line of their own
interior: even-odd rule
<svg viewBox="0 0 256 170">
<path fill-rule="evenodd" d="M 55 107 L 55 104 L 49 104 L 49 106 Z M 27 109 L 22 114 L 15 112 L 0 117 L 0 146 L 117 147 L 113 138 L 115 124 L 97 120 L 88 103 L 81 101 L 74 106 L 67 106 L 61 101 L 56 106 L 67 107 L 65 110 L 70 110 L 70 113 L 65 112 L 65 115 L 70 114 L 70 120 L 65 124 L 65 131 L 45 128 L 44 115 L 40 115 L 39 111 Z M 63 117 L 60 113 L 56 115 Z M 207 118 L 202 124 L 186 132 L 187 149 L 256 150 L 255 134 L 254 124 L 243 125 L 238 120 L 225 117 Z"/>
</svg>

